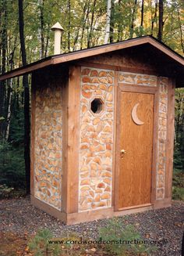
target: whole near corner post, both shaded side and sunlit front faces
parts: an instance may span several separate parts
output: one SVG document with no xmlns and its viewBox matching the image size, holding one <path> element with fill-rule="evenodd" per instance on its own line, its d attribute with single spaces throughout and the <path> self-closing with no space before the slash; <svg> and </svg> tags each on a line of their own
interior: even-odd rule
<svg viewBox="0 0 184 256">
<path fill-rule="evenodd" d="M 62 209 L 78 212 L 80 145 L 80 67 L 69 67 L 69 82 L 63 93 Z"/>
</svg>

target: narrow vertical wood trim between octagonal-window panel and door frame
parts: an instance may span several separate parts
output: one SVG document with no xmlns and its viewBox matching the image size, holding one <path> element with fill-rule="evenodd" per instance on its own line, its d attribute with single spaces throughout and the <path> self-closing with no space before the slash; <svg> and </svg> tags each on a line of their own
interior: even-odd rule
<svg viewBox="0 0 184 256">
<path fill-rule="evenodd" d="M 115 152 L 116 152 L 116 128 L 117 128 L 117 89 L 119 72 L 115 71 L 114 81 L 114 124 L 113 124 L 113 160 L 112 160 L 112 184 L 111 184 L 111 206 L 115 204 Z"/>
</svg>

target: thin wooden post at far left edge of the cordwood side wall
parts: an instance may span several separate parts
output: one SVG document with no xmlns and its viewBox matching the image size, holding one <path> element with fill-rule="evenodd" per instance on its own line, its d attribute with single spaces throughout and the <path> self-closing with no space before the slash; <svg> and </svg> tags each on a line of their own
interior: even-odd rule
<svg viewBox="0 0 184 256">
<path fill-rule="evenodd" d="M 35 109 L 36 109 L 36 81 L 31 76 L 31 121 L 30 121 L 30 194 L 34 196 L 34 143 L 35 143 Z"/>
</svg>

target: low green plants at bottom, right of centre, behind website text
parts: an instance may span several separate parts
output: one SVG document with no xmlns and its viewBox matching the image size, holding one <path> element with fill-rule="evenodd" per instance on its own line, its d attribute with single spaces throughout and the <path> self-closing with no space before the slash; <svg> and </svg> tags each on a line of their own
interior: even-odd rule
<svg viewBox="0 0 184 256">
<path fill-rule="evenodd" d="M 142 238 L 133 225 L 124 226 L 119 218 L 110 219 L 104 228 L 99 229 L 99 236 L 104 241 L 122 241 L 122 243 L 105 243 L 104 249 L 111 255 L 134 255 L 156 251 L 155 247 L 147 247 L 143 243 L 129 243 Z"/>
</svg>

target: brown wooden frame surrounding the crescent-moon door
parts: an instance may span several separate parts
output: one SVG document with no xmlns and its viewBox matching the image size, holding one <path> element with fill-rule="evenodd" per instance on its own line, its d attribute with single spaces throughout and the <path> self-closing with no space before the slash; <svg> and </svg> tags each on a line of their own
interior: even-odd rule
<svg viewBox="0 0 184 256">
<path fill-rule="evenodd" d="M 153 205 L 156 200 L 156 169 L 157 169 L 157 128 L 158 128 L 158 106 L 159 106 L 159 92 L 158 86 L 150 87 L 147 85 L 133 85 L 133 84 L 123 84 L 118 83 L 117 86 L 117 106 L 115 110 L 116 116 L 116 139 L 115 139 L 115 193 L 114 193 L 114 210 L 123 211 L 127 209 L 145 207 L 146 205 L 138 205 L 133 207 L 124 207 L 119 208 L 119 160 L 120 160 L 120 145 L 119 145 L 119 136 L 120 136 L 120 92 L 140 92 L 145 94 L 154 95 L 154 124 L 153 124 L 153 153 L 152 153 L 152 174 L 151 174 L 151 187 L 150 187 L 150 204 Z"/>
</svg>

